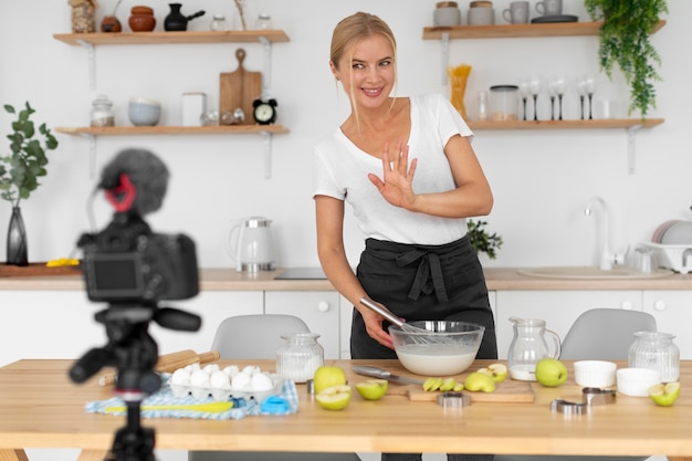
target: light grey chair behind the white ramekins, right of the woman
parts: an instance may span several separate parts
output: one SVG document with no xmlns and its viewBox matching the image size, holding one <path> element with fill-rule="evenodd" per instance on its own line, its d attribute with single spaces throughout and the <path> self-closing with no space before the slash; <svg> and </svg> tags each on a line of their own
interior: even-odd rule
<svg viewBox="0 0 692 461">
<path fill-rule="evenodd" d="M 584 312 L 563 340 L 560 359 L 627 360 L 636 332 L 656 332 L 656 318 L 642 311 L 593 308 Z M 495 454 L 494 461 L 643 461 L 647 457 L 566 457 Z"/>
</svg>

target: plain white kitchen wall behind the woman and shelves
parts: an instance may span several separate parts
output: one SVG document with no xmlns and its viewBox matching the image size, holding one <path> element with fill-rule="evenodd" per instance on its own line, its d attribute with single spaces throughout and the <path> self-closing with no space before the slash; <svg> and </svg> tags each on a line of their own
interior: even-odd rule
<svg viewBox="0 0 692 461">
<path fill-rule="evenodd" d="M 101 0 L 101 18 L 115 0 Z M 126 24 L 129 9 L 143 2 L 125 0 L 118 17 Z M 147 0 L 161 29 L 167 1 Z M 182 231 L 195 238 L 200 265 L 230 266 L 222 241 L 231 220 L 266 216 L 283 266 L 317 265 L 313 201 L 311 199 L 312 146 L 332 132 L 346 115 L 346 98 L 335 86 L 327 62 L 331 33 L 338 20 L 357 10 L 377 13 L 395 30 L 399 43 L 399 95 L 442 92 L 440 43 L 423 41 L 422 28 L 432 22 L 433 0 L 248 0 L 251 18 L 271 13 L 289 43 L 274 44 L 270 93 L 280 103 L 281 124 L 289 135 L 275 136 L 271 179 L 264 178 L 263 143 L 259 136 L 101 137 L 96 171 L 120 148 L 143 146 L 157 153 L 172 178 L 164 208 L 148 217 L 160 232 Z M 496 0 L 496 10 L 508 0 Z M 535 3 L 535 2 L 532 2 Z M 464 12 L 468 2 L 460 3 Z M 658 109 L 651 117 L 665 123 L 637 135 L 636 172 L 627 170 L 627 137 L 617 130 L 478 132 L 474 146 L 491 180 L 495 208 L 491 230 L 505 244 L 489 265 L 595 264 L 597 219 L 584 217 L 591 196 L 602 196 L 612 209 L 612 247 L 650 238 L 668 219 L 689 219 L 689 177 L 692 171 L 685 135 L 691 94 L 689 60 L 681 48 L 690 43 L 684 22 L 692 2 L 669 1 L 668 24 L 653 36 L 661 54 L 662 82 L 657 83 Z M 190 23 L 203 30 L 211 14 L 233 14 L 231 0 L 184 2 L 184 12 L 205 9 L 207 15 Z M 566 0 L 565 13 L 588 20 L 580 0 Z M 502 21 L 502 20 L 500 20 Z M 251 21 L 253 22 L 253 21 Z M 127 30 L 127 27 L 126 27 Z M 85 126 L 96 94 L 111 97 L 117 122 L 126 119 L 127 99 L 144 95 L 161 101 L 164 124 L 179 124 L 180 95 L 203 91 L 218 104 L 220 72 L 235 70 L 237 44 L 98 46 L 97 90 L 88 85 L 87 53 L 53 40 L 70 32 L 66 1 L 24 0 L 0 3 L 0 102 L 22 105 L 29 99 L 36 121 L 49 126 Z M 245 69 L 262 70 L 262 49 L 243 45 Z M 576 77 L 598 71 L 598 39 L 491 39 L 453 41 L 450 64 L 473 66 L 468 105 L 479 90 L 492 84 L 516 83 L 536 73 L 556 72 Z M 678 51 L 675 51 L 678 50 Z M 596 98 L 627 95 L 627 88 L 601 75 Z M 545 95 L 544 95 L 545 97 Z M 542 106 L 543 116 L 547 107 Z M 577 117 L 576 96 L 566 102 L 567 115 Z M 9 129 L 9 116 L 0 114 L 0 132 Z M 4 137 L 3 137 L 4 139 Z M 88 229 L 85 214 L 94 178 L 90 174 L 88 144 L 80 137 L 59 136 L 61 146 L 51 153 L 49 176 L 22 210 L 30 237 L 30 260 L 66 256 L 81 232 Z M 7 153 L 6 144 L 1 154 Z M 0 242 L 10 218 L 10 206 L 0 207 Z M 98 202 L 98 226 L 111 209 Z M 348 220 L 352 224 L 352 220 Z M 354 264 L 360 237 L 349 227 L 347 241 Z M 0 252 L 4 258 L 4 253 Z"/>
</svg>

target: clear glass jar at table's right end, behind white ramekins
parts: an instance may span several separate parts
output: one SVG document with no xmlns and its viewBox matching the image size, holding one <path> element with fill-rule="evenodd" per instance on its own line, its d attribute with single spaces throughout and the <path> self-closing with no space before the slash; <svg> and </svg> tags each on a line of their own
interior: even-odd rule
<svg viewBox="0 0 692 461">
<path fill-rule="evenodd" d="M 662 332 L 637 332 L 629 348 L 630 368 L 649 368 L 661 374 L 663 383 L 680 377 L 680 349 L 673 343 L 675 335 Z"/>
</svg>

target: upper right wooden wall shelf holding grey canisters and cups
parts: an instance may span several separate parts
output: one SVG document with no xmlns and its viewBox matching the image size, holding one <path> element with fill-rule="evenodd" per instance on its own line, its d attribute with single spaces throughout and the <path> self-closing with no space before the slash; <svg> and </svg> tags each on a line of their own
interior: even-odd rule
<svg viewBox="0 0 692 461">
<path fill-rule="evenodd" d="M 423 40 L 449 39 L 510 39 L 521 36 L 579 36 L 598 35 L 602 22 L 551 22 L 541 24 L 455 25 L 451 28 L 423 28 Z M 652 33 L 665 25 L 659 21 Z"/>
</svg>

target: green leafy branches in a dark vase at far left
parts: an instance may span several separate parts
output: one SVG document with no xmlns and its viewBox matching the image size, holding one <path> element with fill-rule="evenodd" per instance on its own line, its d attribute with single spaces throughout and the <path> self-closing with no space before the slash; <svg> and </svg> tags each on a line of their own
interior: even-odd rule
<svg viewBox="0 0 692 461">
<path fill-rule="evenodd" d="M 6 105 L 4 111 L 17 114 L 14 107 Z M 12 122 L 12 130 L 7 136 L 10 139 L 10 153 L 0 157 L 0 197 L 12 203 L 12 218 L 8 230 L 7 262 L 14 265 L 27 265 L 27 232 L 19 203 L 28 199 L 39 186 L 39 178 L 45 176 L 48 165 L 46 150 L 57 147 L 57 140 L 51 130 L 41 124 L 39 130 L 31 121 L 35 111 L 24 103 Z"/>
</svg>

